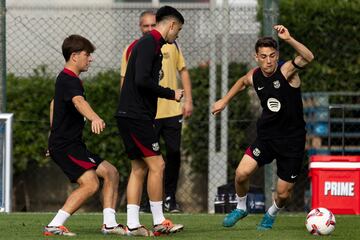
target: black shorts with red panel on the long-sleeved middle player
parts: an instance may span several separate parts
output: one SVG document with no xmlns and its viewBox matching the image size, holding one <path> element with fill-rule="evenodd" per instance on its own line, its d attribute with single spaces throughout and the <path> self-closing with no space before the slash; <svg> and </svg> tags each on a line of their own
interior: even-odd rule
<svg viewBox="0 0 360 240">
<path fill-rule="evenodd" d="M 153 121 L 118 117 L 117 124 L 131 160 L 160 155 Z"/>
</svg>

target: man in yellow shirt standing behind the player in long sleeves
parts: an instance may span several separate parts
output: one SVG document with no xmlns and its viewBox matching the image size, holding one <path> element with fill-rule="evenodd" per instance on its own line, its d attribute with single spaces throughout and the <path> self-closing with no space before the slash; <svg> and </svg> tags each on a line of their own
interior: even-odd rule
<svg viewBox="0 0 360 240">
<path fill-rule="evenodd" d="M 140 14 L 139 27 L 143 35 L 150 32 L 156 25 L 155 13 L 144 11 Z M 130 57 L 131 50 L 138 40 L 133 41 L 123 52 L 121 59 L 121 84 L 124 80 L 127 61 Z M 186 69 L 185 59 L 177 43 L 164 44 L 161 48 L 163 55 L 162 71 L 164 74 L 160 85 L 178 88 L 177 73 L 181 78 L 184 88 L 183 105 L 179 102 L 159 98 L 157 114 L 155 117 L 155 132 L 158 138 L 163 137 L 166 147 L 165 158 L 165 211 L 176 213 L 180 212 L 179 205 L 176 202 L 176 189 L 180 172 L 180 143 L 182 119 L 192 114 L 192 95 L 189 72 Z M 146 201 L 148 203 L 148 201 Z M 148 204 L 145 203 L 145 206 Z M 147 208 L 143 209 L 147 211 Z M 141 209 L 140 209 L 141 210 Z"/>
</svg>

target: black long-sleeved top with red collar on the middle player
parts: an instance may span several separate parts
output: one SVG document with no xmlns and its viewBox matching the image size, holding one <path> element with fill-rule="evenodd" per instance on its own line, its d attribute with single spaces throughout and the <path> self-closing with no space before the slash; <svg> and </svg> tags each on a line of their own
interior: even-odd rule
<svg viewBox="0 0 360 240">
<path fill-rule="evenodd" d="M 157 100 L 174 99 L 175 92 L 159 85 L 163 77 L 161 70 L 161 47 L 165 40 L 152 30 L 134 45 L 120 93 L 117 117 L 155 119 Z"/>
</svg>

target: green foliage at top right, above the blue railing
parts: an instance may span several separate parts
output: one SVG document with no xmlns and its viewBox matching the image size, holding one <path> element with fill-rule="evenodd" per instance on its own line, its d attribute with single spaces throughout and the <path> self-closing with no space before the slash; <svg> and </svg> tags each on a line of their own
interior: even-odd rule
<svg viewBox="0 0 360 240">
<path fill-rule="evenodd" d="M 309 47 L 303 91 L 356 91 L 360 86 L 360 1 L 281 0 L 279 23 Z M 294 50 L 280 41 L 283 59 Z"/>
</svg>

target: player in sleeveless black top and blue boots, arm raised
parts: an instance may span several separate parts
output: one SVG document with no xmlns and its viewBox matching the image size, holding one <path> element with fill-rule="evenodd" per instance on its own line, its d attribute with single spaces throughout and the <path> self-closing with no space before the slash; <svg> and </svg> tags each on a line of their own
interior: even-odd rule
<svg viewBox="0 0 360 240">
<path fill-rule="evenodd" d="M 253 86 L 263 108 L 257 122 L 257 138 L 246 150 L 236 169 L 235 189 L 237 208 L 228 214 L 225 227 L 233 226 L 248 215 L 246 197 L 249 177 L 261 166 L 276 159 L 277 188 L 273 205 L 268 209 L 258 230 L 271 229 L 275 217 L 290 199 L 300 172 L 305 152 L 305 122 L 297 72 L 310 63 L 314 56 L 296 41 L 282 25 L 274 26 L 278 37 L 292 46 L 298 56 L 279 67 L 279 52 L 271 37 L 259 39 L 255 45 L 258 68 L 241 77 L 230 91 L 212 107 L 212 113 L 221 112 L 229 101 L 246 86 Z"/>
</svg>

